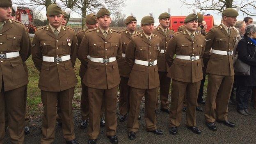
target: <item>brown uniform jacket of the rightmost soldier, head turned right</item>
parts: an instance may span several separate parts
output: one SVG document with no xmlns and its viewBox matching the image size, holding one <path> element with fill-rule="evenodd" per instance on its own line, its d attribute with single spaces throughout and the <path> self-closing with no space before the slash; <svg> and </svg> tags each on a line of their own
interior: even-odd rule
<svg viewBox="0 0 256 144">
<path fill-rule="evenodd" d="M 206 48 L 203 59 L 207 63 L 206 73 L 215 75 L 234 75 L 233 57 L 232 55 L 217 55 L 212 53 L 209 55 L 210 48 L 214 50 L 232 51 L 237 41 L 237 31 L 230 30 L 228 36 L 225 28 L 221 25 L 213 27 L 206 34 Z"/>
</svg>

